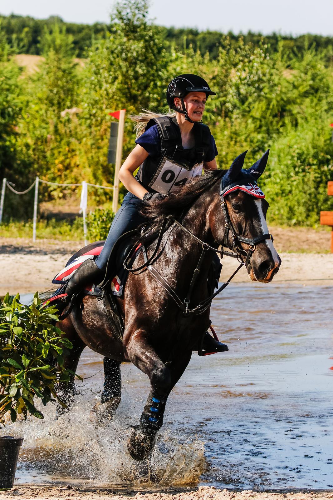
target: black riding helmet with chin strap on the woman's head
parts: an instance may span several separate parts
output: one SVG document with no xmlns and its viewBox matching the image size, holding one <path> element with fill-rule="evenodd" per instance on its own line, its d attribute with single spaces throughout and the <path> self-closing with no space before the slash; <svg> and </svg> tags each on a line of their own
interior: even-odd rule
<svg viewBox="0 0 333 500">
<path fill-rule="evenodd" d="M 216 93 L 209 88 L 207 81 L 197 74 L 180 74 L 170 81 L 166 91 L 167 103 L 169 104 L 169 107 L 184 114 L 185 119 L 192 122 L 192 120 L 188 117 L 184 104 L 184 97 L 189 92 L 205 92 L 206 97 L 209 95 L 216 95 Z M 180 97 L 183 109 L 176 107 L 174 103 L 175 97 Z"/>
</svg>

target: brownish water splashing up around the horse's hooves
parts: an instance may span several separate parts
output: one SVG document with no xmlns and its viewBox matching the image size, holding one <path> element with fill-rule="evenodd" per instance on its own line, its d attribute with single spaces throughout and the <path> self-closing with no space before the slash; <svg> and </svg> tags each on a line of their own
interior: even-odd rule
<svg viewBox="0 0 333 500">
<path fill-rule="evenodd" d="M 119 407 L 112 422 L 95 426 L 90 410 L 94 400 L 77 397 L 72 411 L 56 419 L 55 405 L 43 408 L 44 419 L 28 418 L 6 426 L 6 434 L 24 437 L 17 482 L 89 484 L 165 484 L 197 482 L 206 469 L 204 443 L 196 436 L 179 436 L 168 425 L 157 435 L 149 461 L 136 462 L 127 451 L 129 418 Z M 125 404 L 126 404 L 125 397 Z M 2 433 L 2 432 L 1 432 Z"/>
</svg>

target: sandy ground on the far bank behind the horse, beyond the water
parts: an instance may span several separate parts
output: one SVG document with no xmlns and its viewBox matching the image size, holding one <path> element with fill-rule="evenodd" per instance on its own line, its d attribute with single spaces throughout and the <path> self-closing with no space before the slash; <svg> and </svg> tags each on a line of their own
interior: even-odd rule
<svg viewBox="0 0 333 500">
<path fill-rule="evenodd" d="M 330 249 L 330 232 L 308 228 L 270 229 L 282 258 L 273 283 L 333 285 L 333 253 L 324 253 Z M 81 245 L 77 241 L 39 239 L 33 244 L 26 238 L 1 238 L 0 295 L 7 291 L 11 294 L 29 293 L 51 288 L 52 278 Z M 236 264 L 236 259 L 224 257 L 221 281 L 232 274 Z M 233 282 L 250 283 L 245 268 L 239 271 Z"/>
</svg>

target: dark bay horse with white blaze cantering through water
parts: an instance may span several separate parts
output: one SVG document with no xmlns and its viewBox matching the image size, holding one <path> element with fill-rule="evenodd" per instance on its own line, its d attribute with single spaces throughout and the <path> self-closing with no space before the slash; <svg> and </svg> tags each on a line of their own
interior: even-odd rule
<svg viewBox="0 0 333 500">
<path fill-rule="evenodd" d="M 257 177 L 266 166 L 267 155 L 252 167 Z M 146 210 L 155 225 L 166 220 L 159 244 L 161 252 L 154 268 L 182 301 L 188 294 L 203 247 L 207 245 L 191 293 L 192 309 L 211 294 L 207 277 L 214 256 L 212 248 L 224 245 L 237 252 L 252 280 L 268 283 L 279 269 L 281 260 L 266 224 L 268 203 L 237 184 L 243 182 L 244 173 L 251 170 L 242 169 L 244 157 L 245 154 L 236 158 L 227 171 L 215 170 L 195 177 L 176 194 Z M 231 187 L 224 195 L 226 184 Z M 148 257 L 155 242 L 146 244 Z M 140 252 L 133 267 L 143 264 L 144 256 Z M 186 314 L 148 270 L 130 273 L 123 298 L 117 300 L 125 325 L 122 343 L 110 325 L 103 301 L 89 295 L 83 297 L 83 305 L 74 306 L 59 326 L 73 342 L 71 354 L 65 360 L 66 367 L 75 371 L 86 345 L 108 358 L 111 375 L 106 383 L 110 412 L 114 412 L 120 402 L 121 362 L 130 361 L 149 376 L 151 391 L 140 423 L 132 429 L 127 441 L 131 456 L 142 460 L 152 450 L 156 432 L 162 426 L 167 397 L 209 326 L 210 300 L 208 307 L 199 307 L 199 314 Z M 75 391 L 73 380 L 68 390 L 67 402 Z"/>
</svg>

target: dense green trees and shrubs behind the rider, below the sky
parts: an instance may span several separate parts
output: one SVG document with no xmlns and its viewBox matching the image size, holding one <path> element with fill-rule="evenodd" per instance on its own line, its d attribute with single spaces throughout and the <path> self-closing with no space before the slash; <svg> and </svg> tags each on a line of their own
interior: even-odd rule
<svg viewBox="0 0 333 500">
<path fill-rule="evenodd" d="M 314 225 L 320 210 L 333 208 L 326 194 L 333 178 L 330 38 L 162 28 L 148 21 L 146 0 L 117 3 L 110 25 L 90 26 L 89 40 L 80 25 L 29 18 L 26 26 L 24 19 L 9 16 L 0 25 L 0 179 L 6 176 L 16 189 L 26 188 L 35 175 L 112 185 L 109 111 L 166 110 L 168 81 L 195 72 L 217 92 L 208 99 L 204 121 L 216 139 L 219 166 L 228 167 L 248 149 L 249 167 L 271 148 L 260 180 L 271 221 Z M 12 56 L 23 43 L 13 41 L 16 22 L 23 41 L 31 39 L 25 27 L 37 33 L 38 44 L 24 48 L 44 55 L 33 74 L 18 68 Z M 73 60 L 78 33 L 86 46 L 79 52 L 83 67 Z M 132 125 L 127 119 L 124 156 L 134 145 Z M 42 199 L 70 193 L 41 187 Z M 96 204 L 107 197 L 100 194 Z M 13 214 L 17 209 L 5 208 L 6 217 Z"/>
</svg>

